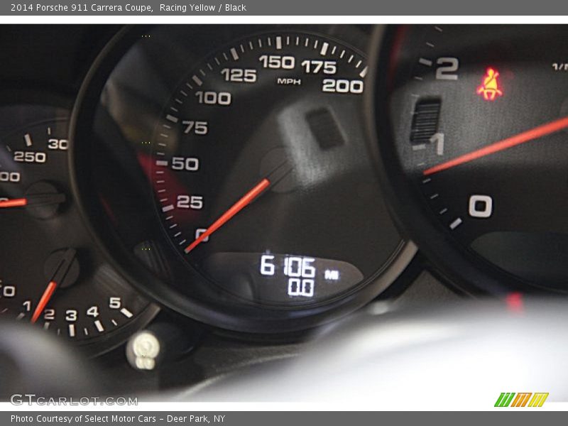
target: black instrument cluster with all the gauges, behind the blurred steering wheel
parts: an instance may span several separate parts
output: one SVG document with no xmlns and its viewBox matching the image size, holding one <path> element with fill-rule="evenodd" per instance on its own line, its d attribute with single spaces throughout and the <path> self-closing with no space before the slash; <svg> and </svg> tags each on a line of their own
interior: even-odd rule
<svg viewBox="0 0 568 426">
<path fill-rule="evenodd" d="M 0 26 L 1 320 L 134 392 L 371 302 L 562 299 L 567 31 Z"/>
</svg>

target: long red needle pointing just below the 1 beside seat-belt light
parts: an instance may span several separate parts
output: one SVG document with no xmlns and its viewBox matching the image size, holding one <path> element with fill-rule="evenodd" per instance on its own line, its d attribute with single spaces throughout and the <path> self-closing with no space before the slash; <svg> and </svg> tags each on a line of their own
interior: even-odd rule
<svg viewBox="0 0 568 426">
<path fill-rule="evenodd" d="M 442 170 L 447 170 L 460 164 L 469 163 L 469 161 L 477 160 L 478 158 L 485 157 L 486 155 L 498 153 L 499 151 L 520 145 L 521 143 L 532 141 L 532 139 L 542 138 L 542 136 L 550 135 L 550 133 L 556 133 L 557 131 L 560 131 L 567 127 L 568 117 L 564 117 L 556 121 L 551 121 L 550 123 L 535 127 L 534 129 L 523 131 L 523 133 L 518 133 L 515 136 L 510 136 L 510 138 L 503 139 L 502 141 L 491 143 L 491 145 L 484 146 L 484 148 L 472 151 L 471 153 L 460 155 L 453 160 L 435 165 L 434 167 L 424 170 L 424 172 L 422 173 L 425 176 L 433 175 L 434 173 L 441 172 Z"/>
</svg>

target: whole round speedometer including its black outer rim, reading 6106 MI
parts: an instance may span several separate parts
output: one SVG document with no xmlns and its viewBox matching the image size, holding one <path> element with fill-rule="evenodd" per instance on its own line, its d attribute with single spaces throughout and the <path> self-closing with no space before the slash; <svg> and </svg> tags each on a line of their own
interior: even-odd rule
<svg viewBox="0 0 568 426">
<path fill-rule="evenodd" d="M 92 72 L 82 97 L 104 84 L 99 109 L 94 120 L 93 107 L 77 109 L 76 137 L 92 128 L 106 133 L 92 146 L 113 146 L 77 151 L 75 162 L 88 156 L 103 170 L 97 157 L 122 151 L 116 165 L 129 165 L 131 182 L 121 196 L 138 204 L 136 216 L 154 216 L 135 219 L 142 235 L 126 212 L 121 219 L 124 201 L 107 209 L 123 246 L 139 255 L 147 241 L 153 264 L 167 266 L 168 285 L 148 289 L 166 305 L 230 329 L 296 330 L 371 300 L 410 261 L 414 248 L 393 226 L 366 153 L 364 38 L 349 26 L 317 30 L 337 36 L 239 26 L 232 35 L 134 31 L 109 48 L 112 57 L 138 38 L 104 82 L 97 77 L 107 62 Z M 144 204 L 126 195 L 134 187 Z"/>
</svg>

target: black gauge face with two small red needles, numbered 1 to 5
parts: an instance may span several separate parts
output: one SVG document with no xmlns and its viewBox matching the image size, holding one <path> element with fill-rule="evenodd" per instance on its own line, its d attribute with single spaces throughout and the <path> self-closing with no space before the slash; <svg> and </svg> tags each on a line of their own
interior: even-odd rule
<svg viewBox="0 0 568 426">
<path fill-rule="evenodd" d="M 119 334 L 148 302 L 99 258 L 73 207 L 68 112 L 33 105 L 1 111 L 1 317 L 84 344 Z"/>
</svg>

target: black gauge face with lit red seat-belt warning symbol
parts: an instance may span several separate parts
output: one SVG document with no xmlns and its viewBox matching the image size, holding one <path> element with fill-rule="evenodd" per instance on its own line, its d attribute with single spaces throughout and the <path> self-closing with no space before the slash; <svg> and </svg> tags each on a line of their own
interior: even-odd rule
<svg viewBox="0 0 568 426">
<path fill-rule="evenodd" d="M 430 220 L 480 268 L 562 290 L 567 35 L 567 26 L 400 27 L 387 81 L 395 151 Z"/>
</svg>

